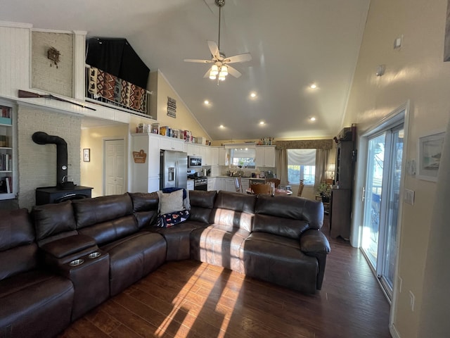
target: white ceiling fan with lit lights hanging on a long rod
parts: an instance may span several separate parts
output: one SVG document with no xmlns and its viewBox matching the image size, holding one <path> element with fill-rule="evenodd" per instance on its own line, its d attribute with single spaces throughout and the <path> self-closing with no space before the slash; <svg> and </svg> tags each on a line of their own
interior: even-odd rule
<svg viewBox="0 0 450 338">
<path fill-rule="evenodd" d="M 225 4 L 225 0 L 215 0 L 214 3 L 219 7 L 219 39 L 218 44 L 214 41 L 207 41 L 208 48 L 211 51 L 211 60 L 199 60 L 193 58 L 185 58 L 185 62 L 195 62 L 195 63 L 213 63 L 211 68 L 205 73 L 204 77 L 210 77 L 211 80 L 225 80 L 226 76 L 231 74 L 234 77 L 240 77 L 242 75 L 236 68 L 231 67 L 229 63 L 239 63 L 252 60 L 250 53 L 238 54 L 235 56 L 227 57 L 223 52 L 220 51 L 220 19 L 221 19 L 221 8 Z M 217 82 L 219 83 L 219 82 Z"/>
</svg>

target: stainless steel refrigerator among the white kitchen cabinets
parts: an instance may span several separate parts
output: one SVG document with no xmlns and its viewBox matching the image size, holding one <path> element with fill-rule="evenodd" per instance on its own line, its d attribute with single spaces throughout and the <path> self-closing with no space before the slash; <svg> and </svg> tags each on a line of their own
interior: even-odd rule
<svg viewBox="0 0 450 338">
<path fill-rule="evenodd" d="M 160 189 L 187 189 L 188 154 L 181 151 L 160 151 Z"/>
</svg>

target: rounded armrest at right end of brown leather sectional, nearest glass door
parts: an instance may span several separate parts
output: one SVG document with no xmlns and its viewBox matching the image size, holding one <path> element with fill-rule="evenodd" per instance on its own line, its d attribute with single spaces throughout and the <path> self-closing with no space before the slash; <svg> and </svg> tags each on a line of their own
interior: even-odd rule
<svg viewBox="0 0 450 338">
<path fill-rule="evenodd" d="M 309 229 L 300 236 L 300 250 L 308 256 L 317 258 L 319 272 L 317 273 L 316 289 L 320 290 L 325 275 L 326 256 L 331 250 L 328 239 L 321 230 Z"/>
</svg>

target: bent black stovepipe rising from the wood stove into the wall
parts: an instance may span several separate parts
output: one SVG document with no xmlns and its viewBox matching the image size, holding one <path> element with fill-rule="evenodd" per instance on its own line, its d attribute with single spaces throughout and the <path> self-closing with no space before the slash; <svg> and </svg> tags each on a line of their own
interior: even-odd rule
<svg viewBox="0 0 450 338">
<path fill-rule="evenodd" d="M 35 132 L 32 140 L 37 144 L 56 144 L 56 186 L 60 189 L 72 189 L 73 182 L 68 182 L 68 144 L 65 140 L 46 132 Z"/>
</svg>

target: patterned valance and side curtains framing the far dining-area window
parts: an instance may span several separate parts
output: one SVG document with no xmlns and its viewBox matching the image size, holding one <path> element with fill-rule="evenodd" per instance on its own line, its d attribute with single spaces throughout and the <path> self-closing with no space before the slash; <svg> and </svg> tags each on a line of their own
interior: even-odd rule
<svg viewBox="0 0 450 338">
<path fill-rule="evenodd" d="M 288 152 L 286 149 L 317 149 L 316 152 L 316 184 L 317 188 L 325 177 L 328 154 L 333 149 L 333 139 L 305 139 L 276 142 L 276 173 L 281 185 L 288 184 Z M 319 162 L 318 159 L 320 158 Z M 324 158 L 324 160 L 323 160 Z M 299 182 L 300 184 L 300 182 Z"/>
</svg>

